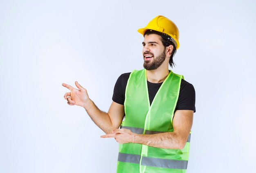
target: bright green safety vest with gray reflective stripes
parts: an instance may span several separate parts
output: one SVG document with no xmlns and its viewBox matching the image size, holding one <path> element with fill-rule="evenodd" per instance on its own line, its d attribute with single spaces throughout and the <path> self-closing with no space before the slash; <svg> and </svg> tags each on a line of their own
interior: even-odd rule
<svg viewBox="0 0 256 173">
<path fill-rule="evenodd" d="M 146 70 L 134 70 L 126 85 L 126 116 L 121 128 L 130 129 L 136 134 L 172 132 L 182 78 L 182 75 L 170 72 L 150 105 Z M 117 173 L 185 173 L 189 142 L 190 135 L 183 149 L 163 149 L 138 143 L 120 144 Z"/>
</svg>

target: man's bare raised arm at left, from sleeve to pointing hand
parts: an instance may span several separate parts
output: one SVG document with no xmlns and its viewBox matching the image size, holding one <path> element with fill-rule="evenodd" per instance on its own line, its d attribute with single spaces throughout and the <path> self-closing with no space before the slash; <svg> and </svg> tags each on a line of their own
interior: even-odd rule
<svg viewBox="0 0 256 173">
<path fill-rule="evenodd" d="M 70 92 L 67 92 L 64 95 L 64 98 L 67 99 L 67 104 L 84 107 L 93 122 L 106 134 L 111 133 L 112 129 L 119 128 L 124 118 L 124 105 L 113 101 L 108 113 L 103 112 L 89 98 L 87 90 L 77 81 L 75 82 L 75 85 L 78 89 L 65 83 L 62 85 L 70 90 Z"/>
</svg>

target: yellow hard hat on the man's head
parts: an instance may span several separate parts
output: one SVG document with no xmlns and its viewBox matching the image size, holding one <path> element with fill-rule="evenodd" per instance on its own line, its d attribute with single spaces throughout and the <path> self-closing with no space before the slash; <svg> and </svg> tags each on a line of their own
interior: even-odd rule
<svg viewBox="0 0 256 173">
<path fill-rule="evenodd" d="M 164 37 L 164 38 L 172 41 L 175 44 L 176 49 L 180 47 L 179 29 L 177 28 L 175 23 L 173 23 L 168 18 L 162 15 L 158 15 L 153 20 L 151 20 L 146 27 L 138 29 L 138 32 L 144 36 L 147 30 L 158 31 L 162 33 L 162 35 L 170 36 L 170 37 Z"/>
</svg>

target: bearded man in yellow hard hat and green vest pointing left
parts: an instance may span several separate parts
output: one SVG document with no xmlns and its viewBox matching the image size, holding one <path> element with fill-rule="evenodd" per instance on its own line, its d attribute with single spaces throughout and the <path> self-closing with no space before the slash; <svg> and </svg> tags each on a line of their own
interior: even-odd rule
<svg viewBox="0 0 256 173">
<path fill-rule="evenodd" d="M 184 173 L 195 90 L 182 75 L 168 69 L 180 45 L 179 31 L 171 20 L 157 16 L 138 32 L 144 35 L 144 69 L 117 79 L 107 113 L 98 109 L 77 81 L 78 90 L 63 83 L 70 90 L 64 98 L 69 105 L 85 108 L 106 133 L 101 138 L 119 143 L 117 173 Z"/>
</svg>

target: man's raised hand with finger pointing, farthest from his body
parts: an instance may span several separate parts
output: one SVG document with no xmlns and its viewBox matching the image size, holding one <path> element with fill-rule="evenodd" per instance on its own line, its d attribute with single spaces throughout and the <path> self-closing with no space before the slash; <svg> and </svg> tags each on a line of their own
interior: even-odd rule
<svg viewBox="0 0 256 173">
<path fill-rule="evenodd" d="M 70 90 L 70 92 L 65 93 L 64 99 L 67 100 L 67 104 L 69 105 L 85 107 L 85 103 L 89 101 L 87 90 L 83 88 L 77 81 L 75 82 L 75 85 L 78 89 L 73 88 L 71 85 L 67 85 L 66 83 L 62 83 L 62 86 Z"/>
</svg>

